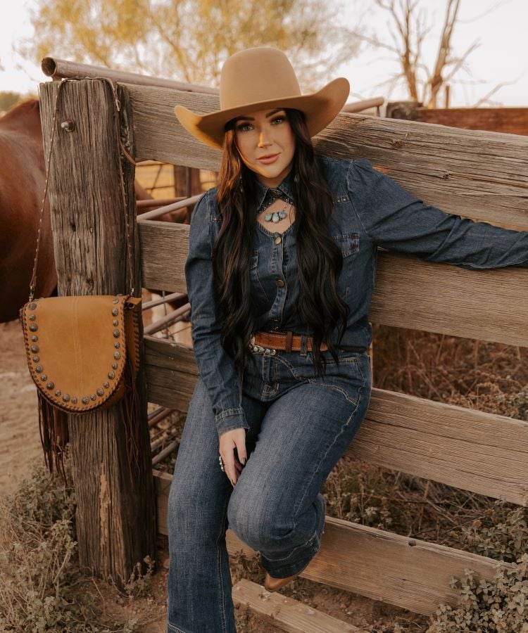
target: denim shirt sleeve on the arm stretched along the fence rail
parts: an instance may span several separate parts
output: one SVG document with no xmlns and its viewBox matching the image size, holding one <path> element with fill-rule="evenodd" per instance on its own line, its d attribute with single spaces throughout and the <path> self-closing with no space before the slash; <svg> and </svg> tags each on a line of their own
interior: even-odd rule
<svg viewBox="0 0 528 633">
<path fill-rule="evenodd" d="M 426 205 L 370 160 L 351 161 L 348 195 L 373 243 L 424 262 L 467 269 L 528 268 L 528 232 L 474 222 Z"/>
</svg>

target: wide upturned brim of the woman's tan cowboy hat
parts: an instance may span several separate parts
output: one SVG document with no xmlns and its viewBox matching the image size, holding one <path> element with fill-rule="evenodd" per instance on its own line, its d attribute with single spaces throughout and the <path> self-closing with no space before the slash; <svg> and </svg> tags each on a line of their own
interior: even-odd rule
<svg viewBox="0 0 528 633">
<path fill-rule="evenodd" d="M 225 124 L 234 117 L 264 110 L 269 106 L 296 108 L 305 114 L 310 136 L 315 136 L 337 117 L 349 94 L 348 79 L 337 77 L 313 94 L 273 98 L 237 106 L 237 108 L 216 110 L 205 115 L 199 115 L 184 106 L 175 106 L 174 112 L 189 134 L 210 147 L 222 150 Z"/>
</svg>

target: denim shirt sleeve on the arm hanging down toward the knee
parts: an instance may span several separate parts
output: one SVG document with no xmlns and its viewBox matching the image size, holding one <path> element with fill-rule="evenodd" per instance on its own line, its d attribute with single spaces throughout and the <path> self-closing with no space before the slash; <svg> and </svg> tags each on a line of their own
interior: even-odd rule
<svg viewBox="0 0 528 633">
<path fill-rule="evenodd" d="M 213 243 L 207 193 L 198 200 L 189 227 L 185 262 L 187 294 L 191 303 L 191 335 L 199 376 L 205 383 L 218 435 L 234 428 L 249 429 L 241 407 L 241 385 L 232 358 L 222 347 L 213 283 Z"/>
</svg>

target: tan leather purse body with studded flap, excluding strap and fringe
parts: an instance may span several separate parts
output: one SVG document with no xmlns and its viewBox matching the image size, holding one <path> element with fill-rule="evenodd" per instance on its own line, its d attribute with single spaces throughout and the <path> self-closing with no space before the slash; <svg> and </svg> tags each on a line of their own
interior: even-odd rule
<svg viewBox="0 0 528 633">
<path fill-rule="evenodd" d="M 139 367 L 141 299 L 130 295 L 50 297 L 20 309 L 27 364 L 39 395 L 82 414 L 125 393 L 125 369 Z"/>
</svg>

